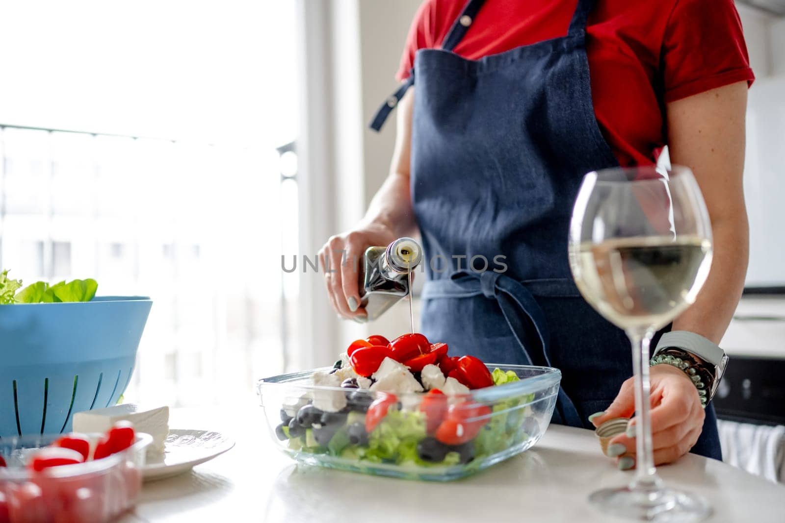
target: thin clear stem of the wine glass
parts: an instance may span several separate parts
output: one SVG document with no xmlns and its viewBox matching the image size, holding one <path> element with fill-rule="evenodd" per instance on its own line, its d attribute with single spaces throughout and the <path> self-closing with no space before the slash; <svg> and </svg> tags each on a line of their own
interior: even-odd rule
<svg viewBox="0 0 785 523">
<path fill-rule="evenodd" d="M 654 332 L 630 331 L 630 342 L 633 349 L 633 372 L 635 373 L 635 443 L 636 463 L 635 479 L 632 488 L 656 488 L 660 479 L 654 467 L 652 456 L 652 419 L 649 414 L 651 408 L 651 385 L 648 380 L 649 368 L 649 343 Z"/>
</svg>

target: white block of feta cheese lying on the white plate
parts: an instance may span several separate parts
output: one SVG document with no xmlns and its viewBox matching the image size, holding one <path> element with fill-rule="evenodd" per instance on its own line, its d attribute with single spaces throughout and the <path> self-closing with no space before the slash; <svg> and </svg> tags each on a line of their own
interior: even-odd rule
<svg viewBox="0 0 785 523">
<path fill-rule="evenodd" d="M 106 409 L 93 409 L 74 414 L 74 432 L 106 432 L 119 421 L 130 421 L 133 429 L 152 436 L 152 448 L 163 452 L 169 435 L 169 407 L 148 407 L 123 403 Z"/>
</svg>

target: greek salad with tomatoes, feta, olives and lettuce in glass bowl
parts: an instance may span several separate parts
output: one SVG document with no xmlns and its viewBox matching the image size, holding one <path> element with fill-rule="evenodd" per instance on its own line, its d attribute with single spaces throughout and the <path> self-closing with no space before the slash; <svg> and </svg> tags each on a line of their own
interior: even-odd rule
<svg viewBox="0 0 785 523">
<path fill-rule="evenodd" d="M 317 387 L 308 394 L 283 402 L 276 436 L 293 452 L 466 464 L 526 440 L 534 394 L 492 406 L 470 394 L 518 380 L 513 371 L 489 371 L 479 358 L 450 356 L 447 344 L 422 334 L 370 336 L 352 342 L 329 371 L 315 372 Z"/>
</svg>

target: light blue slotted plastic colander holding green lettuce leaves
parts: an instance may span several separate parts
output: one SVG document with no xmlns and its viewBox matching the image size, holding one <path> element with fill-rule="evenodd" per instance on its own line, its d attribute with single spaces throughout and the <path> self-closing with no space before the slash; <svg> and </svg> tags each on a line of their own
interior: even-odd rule
<svg viewBox="0 0 785 523">
<path fill-rule="evenodd" d="M 74 412 L 114 405 L 150 307 L 121 296 L 0 305 L 0 438 L 67 432 Z"/>
</svg>

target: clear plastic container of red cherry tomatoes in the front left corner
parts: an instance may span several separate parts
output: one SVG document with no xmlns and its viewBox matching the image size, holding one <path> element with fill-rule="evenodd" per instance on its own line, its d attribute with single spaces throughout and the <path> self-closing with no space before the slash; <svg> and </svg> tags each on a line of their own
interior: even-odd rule
<svg viewBox="0 0 785 523">
<path fill-rule="evenodd" d="M 98 435 L 97 435 L 98 436 Z M 0 521 L 110 521 L 136 504 L 141 491 L 149 434 L 137 434 L 128 449 L 104 459 L 51 467 L 40 472 L 24 467 L 38 449 L 59 434 L 2 438 Z"/>
</svg>

